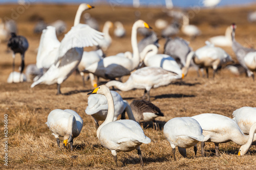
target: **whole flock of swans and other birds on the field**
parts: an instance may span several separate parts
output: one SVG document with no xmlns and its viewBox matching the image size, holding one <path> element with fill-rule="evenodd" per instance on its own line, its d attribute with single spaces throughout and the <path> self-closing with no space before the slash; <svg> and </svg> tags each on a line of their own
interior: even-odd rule
<svg viewBox="0 0 256 170">
<path fill-rule="evenodd" d="M 220 1 L 216 1 L 218 4 Z M 214 6 L 212 4 L 205 5 Z M 74 26 L 59 41 L 57 35 L 65 31 L 57 30 L 56 26 L 39 25 L 35 28 L 36 33 L 40 32 L 41 37 L 36 56 L 36 64 L 27 67 L 26 76 L 23 74 L 25 68 L 25 52 L 29 47 L 28 40 L 21 35 L 11 32 L 8 47 L 13 52 L 13 71 L 8 83 L 33 81 L 31 88 L 39 84 L 57 84 L 57 94 L 62 94 L 60 84 L 78 70 L 85 85 L 84 76 L 88 74 L 91 85 L 95 88 L 88 98 L 86 114 L 91 115 L 97 129 L 96 134 L 101 145 L 110 150 L 116 166 L 117 152 L 130 152 L 137 150 L 140 164 L 143 165 L 140 146 L 150 143 L 151 139 L 145 136 L 141 128 L 142 122 L 153 122 L 156 130 L 161 128 L 156 122 L 158 116 L 164 116 L 160 108 L 150 102 L 150 90 L 160 86 L 166 86 L 174 81 L 179 81 L 187 76 L 189 67 L 205 69 L 208 76 L 208 69 L 214 70 L 215 77 L 221 66 L 233 63 L 220 46 L 230 46 L 237 56 L 237 60 L 246 70 L 247 76 L 254 80 L 256 72 L 256 50 L 242 46 L 235 39 L 236 24 L 232 23 L 226 29 L 225 36 L 216 36 L 206 41 L 206 45 L 196 51 L 189 46 L 189 42 L 180 38 L 171 38 L 182 31 L 191 38 L 191 41 L 202 34 L 195 26 L 189 24 L 187 14 L 182 13 L 177 22 L 168 25 L 164 20 L 157 20 L 156 27 L 165 29 L 162 37 L 166 38 L 164 54 L 159 54 L 158 37 L 154 31 L 145 36 L 140 42 L 137 41 L 139 29 L 151 30 L 152 28 L 143 20 L 134 22 L 131 34 L 132 52 L 118 53 L 113 56 L 105 56 L 105 52 L 111 46 L 112 37 L 109 30 L 115 26 L 115 37 L 126 36 L 126 31 L 120 21 L 106 21 L 102 32 L 99 31 L 97 20 L 89 13 L 83 15 L 84 22 L 80 23 L 83 11 L 94 8 L 88 4 L 80 4 L 78 7 Z M 175 14 L 170 14 L 174 16 Z M 42 22 L 40 23 L 41 25 Z M 59 25 L 61 25 L 59 23 Z M 65 28 L 66 29 L 66 28 Z M 6 33 L 7 34 L 7 33 Z M 215 46 L 217 45 L 217 46 Z M 83 47 L 95 46 L 93 51 L 83 51 Z M 15 54 L 20 53 L 22 63 L 20 71 L 14 71 Z M 144 65 L 144 67 L 143 67 Z M 130 75 L 126 82 L 121 78 Z M 100 85 L 100 79 L 110 80 L 105 85 Z M 118 80 L 117 80 L 118 79 Z M 143 89 L 142 100 L 134 100 L 131 104 L 123 100 L 121 95 L 110 90 L 115 87 L 121 91 L 132 89 Z M 126 119 L 125 112 L 129 119 Z M 117 120 L 121 115 L 121 119 Z M 99 125 L 99 121 L 104 121 Z M 73 110 L 55 109 L 48 115 L 47 126 L 56 138 L 57 146 L 60 148 L 59 137 L 63 137 L 63 147 L 70 143 L 70 150 L 73 151 L 73 139 L 79 136 L 82 127 L 82 118 Z M 219 143 L 232 141 L 241 145 L 238 155 L 245 155 L 256 141 L 254 136 L 256 130 L 256 108 L 242 107 L 233 111 L 233 119 L 215 113 L 203 113 L 192 117 L 175 117 L 168 120 L 163 127 L 163 135 L 170 143 L 174 160 L 176 160 L 176 147 L 179 153 L 186 157 L 186 149 L 194 147 L 197 154 L 197 143 L 201 142 L 201 154 L 205 155 L 205 142 L 214 142 L 216 155 L 219 155 Z M 74 151 L 75 152 L 75 151 Z"/>
</svg>

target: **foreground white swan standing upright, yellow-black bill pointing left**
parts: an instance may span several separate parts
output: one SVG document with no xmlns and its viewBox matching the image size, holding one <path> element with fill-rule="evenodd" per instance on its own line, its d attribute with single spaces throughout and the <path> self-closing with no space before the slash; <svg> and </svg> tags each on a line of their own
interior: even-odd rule
<svg viewBox="0 0 256 170">
<path fill-rule="evenodd" d="M 115 107 L 110 89 L 106 85 L 100 85 L 88 94 L 103 94 L 108 101 L 108 115 L 105 121 L 97 129 L 97 137 L 106 149 L 109 149 L 117 164 L 117 152 L 138 151 L 140 164 L 143 166 L 140 145 L 150 143 L 151 139 L 145 136 L 143 130 L 134 120 L 117 120 L 113 122 Z"/>
</svg>

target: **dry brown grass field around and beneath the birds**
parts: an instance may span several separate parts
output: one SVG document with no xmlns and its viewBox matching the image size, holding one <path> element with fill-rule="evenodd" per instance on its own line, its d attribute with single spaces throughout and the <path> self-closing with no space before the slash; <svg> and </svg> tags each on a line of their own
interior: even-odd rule
<svg viewBox="0 0 256 170">
<path fill-rule="evenodd" d="M 119 52 L 132 51 L 131 27 L 135 21 L 134 11 L 131 7 L 110 5 L 95 5 L 96 8 L 89 13 L 100 22 L 102 28 L 104 21 L 120 20 L 124 23 L 127 36 L 122 39 L 113 38 L 113 43 L 106 55 Z M 1 5 L 0 16 L 10 17 L 17 5 Z M 25 56 L 25 64 L 36 62 L 35 49 L 39 45 L 40 35 L 33 34 L 34 18 L 41 16 L 46 22 L 56 19 L 65 20 L 70 29 L 78 5 L 30 5 L 16 19 L 18 34 L 28 38 L 29 49 Z M 237 23 L 236 39 L 244 46 L 256 47 L 255 23 L 247 21 L 249 11 L 256 6 L 248 7 L 223 7 L 218 9 L 200 9 L 191 24 L 197 25 L 202 35 L 190 42 L 194 50 L 204 45 L 204 41 L 215 35 L 222 35 L 227 26 L 232 22 Z M 187 10 L 190 10 L 188 8 Z M 148 22 L 154 29 L 157 18 L 168 17 L 161 8 L 140 8 L 141 19 Z M 81 19 L 81 22 L 83 20 Z M 214 27 L 213 27 L 214 26 Z M 160 30 L 154 29 L 158 34 Z M 113 35 L 113 30 L 111 30 Z M 178 36 L 189 40 L 179 33 Z M 61 40 L 63 37 L 60 36 Z M 138 40 L 141 39 L 138 36 Z M 160 39 L 159 53 L 163 52 L 164 39 Z M 236 60 L 231 47 L 224 50 Z M 187 158 L 178 152 L 177 161 L 174 161 L 170 144 L 163 136 L 162 130 L 152 129 L 152 124 L 144 127 L 144 133 L 152 142 L 142 144 L 144 167 L 140 166 L 136 151 L 118 153 L 118 164 L 115 166 L 112 154 L 103 148 L 96 137 L 93 118 L 84 110 L 87 107 L 87 93 L 93 88 L 89 82 L 82 86 L 82 79 L 75 73 L 61 84 L 61 91 L 67 95 L 55 95 L 56 85 L 38 85 L 30 88 L 31 82 L 8 84 L 7 78 L 12 71 L 12 55 L 7 52 L 6 43 L 0 44 L 0 129 L 1 141 L 4 137 L 4 114 L 8 114 L 8 168 L 10 169 L 255 169 L 256 149 L 252 146 L 244 156 L 238 156 L 239 145 L 228 142 L 220 144 L 220 156 L 215 156 L 214 144 L 206 143 L 206 157 L 201 156 L 200 143 L 197 157 L 194 157 L 193 148 L 187 149 Z M 16 68 L 20 64 L 17 55 Z M 128 76 L 125 76 L 125 81 Z M 151 101 L 165 114 L 157 118 L 160 127 L 169 119 L 182 116 L 193 116 L 201 113 L 218 113 L 228 117 L 232 112 L 243 106 L 256 107 L 255 91 L 256 82 L 245 75 L 234 76 L 227 69 L 219 72 L 215 79 L 197 77 L 196 71 L 190 70 L 182 81 L 176 81 L 168 86 L 151 90 Z M 140 99 L 143 90 L 136 89 L 127 92 L 118 91 L 124 100 L 131 103 Z M 72 109 L 83 119 L 84 124 L 81 134 L 74 139 L 74 151 L 58 149 L 56 140 L 46 126 L 47 116 L 54 109 Z M 4 164 L 4 144 L 1 142 L 1 164 Z M 75 158 L 75 159 L 74 159 Z M 5 165 L 0 166 L 6 167 Z"/>
</svg>

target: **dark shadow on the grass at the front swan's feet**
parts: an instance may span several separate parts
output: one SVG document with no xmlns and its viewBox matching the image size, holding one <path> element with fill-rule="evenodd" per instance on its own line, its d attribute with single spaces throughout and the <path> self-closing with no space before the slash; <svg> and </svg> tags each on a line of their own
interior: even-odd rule
<svg viewBox="0 0 256 170">
<path fill-rule="evenodd" d="M 164 155 L 164 156 L 158 157 L 158 158 L 144 158 L 143 150 L 141 152 L 142 152 L 142 160 L 143 160 L 144 164 L 147 164 L 149 162 L 165 162 L 168 160 L 168 155 Z M 134 155 L 134 157 L 130 156 L 129 158 L 123 158 L 121 160 L 121 162 L 123 163 L 122 166 L 126 166 L 127 164 L 139 164 L 140 158 L 137 154 L 136 154 L 136 156 Z"/>
</svg>

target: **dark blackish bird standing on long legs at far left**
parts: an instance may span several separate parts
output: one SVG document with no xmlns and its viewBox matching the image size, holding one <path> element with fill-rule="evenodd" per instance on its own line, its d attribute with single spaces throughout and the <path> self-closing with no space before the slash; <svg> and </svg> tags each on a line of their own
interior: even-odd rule
<svg viewBox="0 0 256 170">
<path fill-rule="evenodd" d="M 24 36 L 20 36 L 20 35 L 17 36 L 15 33 L 11 33 L 11 38 L 9 39 L 7 46 L 11 48 L 13 52 L 12 71 L 14 71 L 14 68 L 15 68 L 15 54 L 19 53 L 22 56 L 22 63 L 20 64 L 20 75 L 21 75 L 25 67 L 24 55 L 29 47 L 28 40 Z"/>
</svg>

